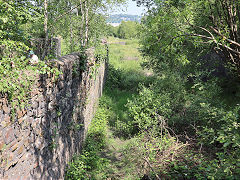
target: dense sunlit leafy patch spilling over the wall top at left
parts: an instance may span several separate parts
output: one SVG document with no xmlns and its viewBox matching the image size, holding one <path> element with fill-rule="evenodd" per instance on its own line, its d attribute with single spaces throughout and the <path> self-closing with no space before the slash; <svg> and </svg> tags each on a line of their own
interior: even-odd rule
<svg viewBox="0 0 240 180">
<path fill-rule="evenodd" d="M 31 65 L 30 48 L 22 42 L 2 40 L 0 44 L 0 93 L 7 96 L 13 118 L 17 109 L 26 108 L 36 76 L 47 73 L 56 79 L 60 71 L 43 61 Z"/>
</svg>

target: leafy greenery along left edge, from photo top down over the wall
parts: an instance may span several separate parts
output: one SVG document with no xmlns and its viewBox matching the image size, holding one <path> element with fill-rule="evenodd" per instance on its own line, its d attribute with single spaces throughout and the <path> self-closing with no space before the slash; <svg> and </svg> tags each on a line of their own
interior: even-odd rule
<svg viewBox="0 0 240 180">
<path fill-rule="evenodd" d="M 43 61 L 34 66 L 29 62 L 29 38 L 22 26 L 33 19 L 30 7 L 30 3 L 0 1 L 0 94 L 7 96 L 12 117 L 28 104 L 36 74 L 60 74 Z"/>
</svg>

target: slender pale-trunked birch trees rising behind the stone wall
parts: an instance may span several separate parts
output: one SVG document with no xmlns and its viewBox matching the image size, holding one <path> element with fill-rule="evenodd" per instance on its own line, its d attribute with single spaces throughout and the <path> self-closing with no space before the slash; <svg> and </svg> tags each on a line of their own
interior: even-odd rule
<svg viewBox="0 0 240 180">
<path fill-rule="evenodd" d="M 46 55 L 48 39 L 52 36 L 61 36 L 68 47 L 67 53 L 79 51 L 95 44 L 101 34 L 104 12 L 110 6 L 124 0 L 31 0 L 38 12 L 38 19 L 28 24 L 26 30 L 32 37 L 45 39 Z M 101 24 L 97 22 L 101 20 Z M 101 27 L 101 28 L 100 28 Z M 43 58 L 42 58 L 43 59 Z"/>
</svg>

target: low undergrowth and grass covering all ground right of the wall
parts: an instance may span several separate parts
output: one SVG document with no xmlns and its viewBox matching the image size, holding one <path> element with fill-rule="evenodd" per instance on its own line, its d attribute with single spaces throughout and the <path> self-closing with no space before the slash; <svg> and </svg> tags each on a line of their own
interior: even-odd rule
<svg viewBox="0 0 240 180">
<path fill-rule="evenodd" d="M 146 77 L 138 66 L 111 60 L 117 56 L 110 56 L 100 115 L 67 177 L 239 179 L 240 107 L 225 103 L 234 96 L 222 96 L 222 82 L 197 75 L 190 82 L 167 68 Z"/>
</svg>

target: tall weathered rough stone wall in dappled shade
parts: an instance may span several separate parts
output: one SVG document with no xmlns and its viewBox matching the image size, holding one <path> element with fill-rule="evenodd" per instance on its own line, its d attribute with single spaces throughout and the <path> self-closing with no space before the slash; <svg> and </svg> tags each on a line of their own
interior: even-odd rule
<svg viewBox="0 0 240 180">
<path fill-rule="evenodd" d="M 63 74 L 38 75 L 29 106 L 16 118 L 0 97 L 0 179 L 63 179 L 103 90 L 105 62 L 94 70 L 92 50 L 87 53 L 87 61 L 78 53 L 54 60 Z"/>
</svg>

